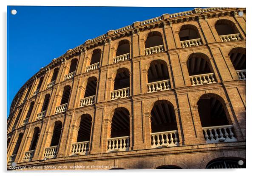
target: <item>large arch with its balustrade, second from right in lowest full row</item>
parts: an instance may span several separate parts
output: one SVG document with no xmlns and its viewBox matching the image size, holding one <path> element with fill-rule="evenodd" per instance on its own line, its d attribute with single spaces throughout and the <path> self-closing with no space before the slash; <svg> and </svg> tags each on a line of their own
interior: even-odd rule
<svg viewBox="0 0 256 176">
<path fill-rule="evenodd" d="M 151 110 L 151 146 L 178 146 L 179 137 L 173 105 L 166 100 L 154 103 Z"/>
</svg>

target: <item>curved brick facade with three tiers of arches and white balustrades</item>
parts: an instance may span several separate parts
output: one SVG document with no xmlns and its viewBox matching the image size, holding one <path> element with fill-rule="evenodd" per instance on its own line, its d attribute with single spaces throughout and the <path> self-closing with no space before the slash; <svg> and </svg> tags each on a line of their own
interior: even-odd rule
<svg viewBox="0 0 256 176">
<path fill-rule="evenodd" d="M 238 159 L 245 8 L 163 14 L 85 41 L 23 85 L 7 120 L 8 169 L 214 168 Z"/>
</svg>

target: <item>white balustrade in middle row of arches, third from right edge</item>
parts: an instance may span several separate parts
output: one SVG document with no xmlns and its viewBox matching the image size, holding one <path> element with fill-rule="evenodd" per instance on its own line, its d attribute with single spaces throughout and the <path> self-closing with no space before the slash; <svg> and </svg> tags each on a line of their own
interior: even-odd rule
<svg viewBox="0 0 256 176">
<path fill-rule="evenodd" d="M 150 82 L 147 84 L 148 93 L 171 90 L 170 80 Z"/>
</svg>

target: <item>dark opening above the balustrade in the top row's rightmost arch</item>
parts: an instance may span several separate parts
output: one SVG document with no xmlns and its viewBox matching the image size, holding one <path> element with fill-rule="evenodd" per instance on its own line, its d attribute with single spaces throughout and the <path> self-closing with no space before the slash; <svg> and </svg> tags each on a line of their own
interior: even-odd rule
<svg viewBox="0 0 256 176">
<path fill-rule="evenodd" d="M 239 33 L 236 25 L 228 19 L 220 19 L 215 23 L 215 29 L 219 36 Z"/>
</svg>

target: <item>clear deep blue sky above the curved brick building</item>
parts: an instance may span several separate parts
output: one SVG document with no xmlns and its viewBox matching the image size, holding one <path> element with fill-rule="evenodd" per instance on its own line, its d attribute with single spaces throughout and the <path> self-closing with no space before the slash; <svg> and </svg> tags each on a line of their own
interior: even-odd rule
<svg viewBox="0 0 256 176">
<path fill-rule="evenodd" d="M 68 49 L 108 30 L 193 8 L 8 6 L 7 115 L 22 85 Z"/>
</svg>

